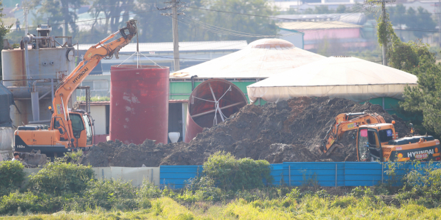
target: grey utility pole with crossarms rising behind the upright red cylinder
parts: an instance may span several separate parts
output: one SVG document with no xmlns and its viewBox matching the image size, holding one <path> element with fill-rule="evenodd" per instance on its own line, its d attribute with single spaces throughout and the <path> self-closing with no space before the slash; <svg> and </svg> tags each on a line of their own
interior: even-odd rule
<svg viewBox="0 0 441 220">
<path fill-rule="evenodd" d="M 171 6 L 167 8 L 172 8 L 172 13 L 162 13 L 165 16 L 172 16 L 172 32 L 173 32 L 173 68 L 174 71 L 181 70 L 179 67 L 179 36 L 178 36 L 178 15 L 185 15 L 183 12 L 178 12 L 178 8 L 185 7 L 179 0 L 172 0 L 165 3 L 170 3 Z M 166 9 L 166 8 L 164 8 Z"/>
</svg>

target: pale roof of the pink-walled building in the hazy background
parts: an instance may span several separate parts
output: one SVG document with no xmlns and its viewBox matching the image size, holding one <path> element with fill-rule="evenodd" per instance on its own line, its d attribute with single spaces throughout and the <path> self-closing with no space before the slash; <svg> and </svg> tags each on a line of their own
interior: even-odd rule
<svg viewBox="0 0 441 220">
<path fill-rule="evenodd" d="M 345 23 L 341 21 L 326 21 L 326 22 L 312 22 L 312 21 L 294 21 L 294 22 L 280 22 L 279 28 L 287 30 L 320 30 L 332 28 L 362 28 L 362 26 Z"/>
</svg>

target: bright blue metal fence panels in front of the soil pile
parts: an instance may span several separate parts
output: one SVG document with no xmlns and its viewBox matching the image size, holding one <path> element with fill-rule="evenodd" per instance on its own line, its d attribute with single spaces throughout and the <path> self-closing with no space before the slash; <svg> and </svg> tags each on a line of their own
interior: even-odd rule
<svg viewBox="0 0 441 220">
<path fill-rule="evenodd" d="M 396 179 L 409 172 L 432 166 L 440 168 L 440 162 L 396 163 Z M 417 167 L 419 166 L 419 167 Z M 387 163 L 362 162 L 286 162 L 271 164 L 272 185 L 302 186 L 318 183 L 320 186 L 375 186 L 389 180 Z M 161 186 L 182 188 L 187 181 L 203 171 L 202 166 L 161 166 Z M 399 183 L 399 182 L 398 182 Z"/>
</svg>

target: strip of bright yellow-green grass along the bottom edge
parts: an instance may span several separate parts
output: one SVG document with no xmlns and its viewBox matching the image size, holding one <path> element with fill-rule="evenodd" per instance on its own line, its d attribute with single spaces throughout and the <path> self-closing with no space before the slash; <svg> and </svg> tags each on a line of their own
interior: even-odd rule
<svg viewBox="0 0 441 220">
<path fill-rule="evenodd" d="M 54 214 L 16 215 L 0 219 L 441 219 L 440 208 L 424 208 L 409 201 L 400 208 L 370 197 L 304 197 L 257 200 L 236 199 L 229 203 L 196 202 L 180 204 L 163 197 L 152 199 L 152 208 L 123 212 L 55 212 Z"/>
</svg>

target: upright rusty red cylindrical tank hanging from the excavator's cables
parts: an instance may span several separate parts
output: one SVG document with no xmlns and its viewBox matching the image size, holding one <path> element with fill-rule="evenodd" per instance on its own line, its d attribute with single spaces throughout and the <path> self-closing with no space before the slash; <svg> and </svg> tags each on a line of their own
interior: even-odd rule
<svg viewBox="0 0 441 220">
<path fill-rule="evenodd" d="M 110 139 L 167 143 L 169 68 L 136 65 L 110 69 Z"/>
</svg>

